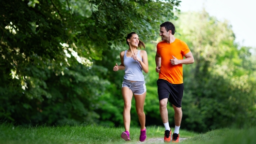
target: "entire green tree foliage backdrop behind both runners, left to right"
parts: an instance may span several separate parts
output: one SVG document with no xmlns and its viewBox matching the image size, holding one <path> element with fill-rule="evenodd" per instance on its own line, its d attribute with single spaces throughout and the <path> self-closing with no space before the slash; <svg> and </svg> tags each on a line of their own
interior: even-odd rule
<svg viewBox="0 0 256 144">
<path fill-rule="evenodd" d="M 256 57 L 227 21 L 206 12 L 174 15 L 179 0 L 0 0 L 0 119 L 16 124 L 123 124 L 119 53 L 135 31 L 146 44 L 146 126 L 161 125 L 155 72 L 164 21 L 192 50 L 184 65 L 182 129 L 256 124 Z M 179 10 L 176 10 L 179 12 Z M 138 126 L 132 101 L 131 125 Z M 174 112 L 168 105 L 169 123 Z"/>
</svg>

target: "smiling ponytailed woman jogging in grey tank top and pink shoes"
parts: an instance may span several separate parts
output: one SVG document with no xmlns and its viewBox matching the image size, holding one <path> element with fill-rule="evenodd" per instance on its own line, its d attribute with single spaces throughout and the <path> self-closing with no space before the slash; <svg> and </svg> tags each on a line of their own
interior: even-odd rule
<svg viewBox="0 0 256 144">
<path fill-rule="evenodd" d="M 145 44 L 139 40 L 135 32 L 127 35 L 126 43 L 129 49 L 120 53 L 121 64 L 114 66 L 113 71 L 125 70 L 124 81 L 122 84 L 122 95 L 124 99 L 123 119 L 125 130 L 121 134 L 121 138 L 125 141 L 130 141 L 130 109 L 132 95 L 134 95 L 136 103 L 136 112 L 141 124 L 140 141 L 146 139 L 144 101 L 146 97 L 146 86 L 144 82 L 144 72 L 148 72 L 147 53 L 144 50 L 137 48 L 145 48 Z"/>
</svg>

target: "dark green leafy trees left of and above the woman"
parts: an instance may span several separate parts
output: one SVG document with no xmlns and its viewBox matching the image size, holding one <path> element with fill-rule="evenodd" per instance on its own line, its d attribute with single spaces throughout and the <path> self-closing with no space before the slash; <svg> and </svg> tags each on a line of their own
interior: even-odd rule
<svg viewBox="0 0 256 144">
<path fill-rule="evenodd" d="M 112 66 L 124 37 L 154 39 L 179 2 L 0 0 L 0 118 L 120 125 L 122 72 Z"/>
</svg>

